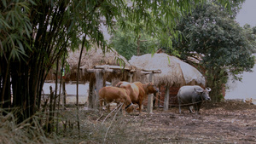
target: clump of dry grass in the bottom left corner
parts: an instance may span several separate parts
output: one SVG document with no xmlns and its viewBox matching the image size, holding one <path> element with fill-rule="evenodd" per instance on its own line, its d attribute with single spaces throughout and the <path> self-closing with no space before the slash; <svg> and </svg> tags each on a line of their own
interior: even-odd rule
<svg viewBox="0 0 256 144">
<path fill-rule="evenodd" d="M 3 110 L 0 110 L 0 112 L 3 112 Z M 45 135 L 39 124 L 38 116 L 33 116 L 20 124 L 16 124 L 13 113 L 15 112 L 0 116 L 0 143 L 54 143 Z"/>
</svg>

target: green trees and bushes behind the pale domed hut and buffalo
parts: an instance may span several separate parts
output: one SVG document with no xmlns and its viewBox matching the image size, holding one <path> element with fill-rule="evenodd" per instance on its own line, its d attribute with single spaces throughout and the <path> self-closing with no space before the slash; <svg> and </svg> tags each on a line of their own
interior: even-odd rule
<svg viewBox="0 0 256 144">
<path fill-rule="evenodd" d="M 251 72 L 254 66 L 252 54 L 256 50 L 256 37 L 253 29 L 256 26 L 241 27 L 235 20 L 243 2 L 244 0 L 232 1 L 230 9 L 224 9 L 217 1 L 196 6 L 191 9 L 191 13 L 183 14 L 177 20 L 177 36 L 172 34 L 165 38 L 155 37 L 155 40 L 142 28 L 140 32 L 147 36 L 144 39 L 152 43 L 143 42 L 140 55 L 165 49 L 169 55 L 176 55 L 196 66 L 206 76 L 207 86 L 212 88 L 212 100 L 220 101 L 228 78 L 241 80 L 241 73 Z M 118 26 L 111 39 L 113 48 L 128 60 L 132 55 L 137 55 L 136 35 L 131 33 L 122 31 Z M 171 40 L 168 41 L 168 38 Z M 161 39 L 166 39 L 169 44 L 160 43 Z"/>
</svg>

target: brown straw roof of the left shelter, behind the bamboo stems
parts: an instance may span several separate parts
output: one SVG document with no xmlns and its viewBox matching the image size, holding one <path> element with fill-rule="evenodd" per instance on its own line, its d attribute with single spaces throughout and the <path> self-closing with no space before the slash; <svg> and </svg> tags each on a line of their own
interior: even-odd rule
<svg viewBox="0 0 256 144">
<path fill-rule="evenodd" d="M 70 72 L 67 75 L 67 80 L 75 80 L 77 68 L 79 64 L 79 56 L 80 56 L 80 49 L 76 50 L 75 52 L 69 52 L 67 57 L 67 63 L 70 66 Z M 120 66 L 121 63 L 121 66 Z M 90 77 L 95 77 L 93 73 L 87 72 L 88 69 L 93 69 L 94 66 L 102 66 L 102 65 L 110 65 L 110 66 L 120 66 L 120 68 L 132 69 L 131 64 L 128 60 L 125 59 L 122 55 L 119 55 L 117 51 L 114 49 L 107 49 L 105 48 L 105 54 L 103 53 L 102 49 L 97 47 L 96 45 L 91 48 L 90 50 L 86 51 L 84 49 L 82 57 L 81 57 L 81 64 L 80 68 L 82 69 L 81 78 L 80 80 L 83 81 L 90 81 Z M 106 73 L 105 78 L 120 78 L 125 79 L 127 72 L 125 71 L 114 71 L 112 73 Z"/>
</svg>

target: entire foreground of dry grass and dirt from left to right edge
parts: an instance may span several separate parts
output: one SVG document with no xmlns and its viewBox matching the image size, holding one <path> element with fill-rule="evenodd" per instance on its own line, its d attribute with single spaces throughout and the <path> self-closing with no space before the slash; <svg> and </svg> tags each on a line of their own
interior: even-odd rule
<svg viewBox="0 0 256 144">
<path fill-rule="evenodd" d="M 185 107 L 183 107 L 185 108 Z M 164 112 L 143 112 L 141 116 L 120 112 L 98 112 L 79 108 L 80 139 L 76 108 L 61 111 L 59 134 L 48 135 L 34 116 L 15 124 L 12 113 L 1 116 L 0 143 L 255 143 L 256 106 L 241 101 L 205 103 L 201 114 L 177 107 Z"/>
</svg>

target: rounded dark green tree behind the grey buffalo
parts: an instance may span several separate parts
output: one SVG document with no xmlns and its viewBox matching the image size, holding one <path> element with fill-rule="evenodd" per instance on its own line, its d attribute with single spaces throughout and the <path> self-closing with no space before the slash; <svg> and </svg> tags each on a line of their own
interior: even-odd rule
<svg viewBox="0 0 256 144">
<path fill-rule="evenodd" d="M 205 3 L 183 17 L 177 25 L 180 37 L 174 47 L 181 57 L 200 60 L 205 68 L 207 85 L 212 88 L 212 100 L 221 98 L 220 89 L 228 72 L 240 79 L 254 65 L 252 47 L 243 29 L 218 4 Z"/>
</svg>

